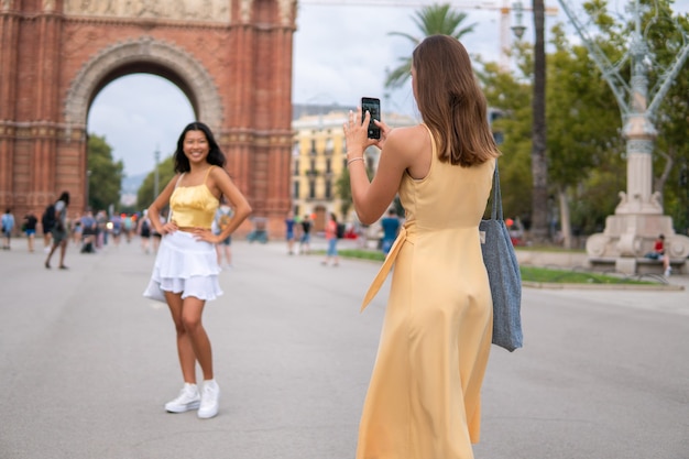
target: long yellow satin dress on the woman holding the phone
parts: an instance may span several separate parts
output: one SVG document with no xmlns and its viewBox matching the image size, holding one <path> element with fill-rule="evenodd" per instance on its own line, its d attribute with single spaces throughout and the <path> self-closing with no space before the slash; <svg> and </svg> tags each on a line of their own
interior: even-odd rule
<svg viewBox="0 0 689 459">
<path fill-rule="evenodd" d="M 494 167 L 442 163 L 433 141 L 427 176 L 402 181 L 406 222 L 362 306 L 394 263 L 357 459 L 473 458 L 493 324 L 479 222 Z"/>
</svg>

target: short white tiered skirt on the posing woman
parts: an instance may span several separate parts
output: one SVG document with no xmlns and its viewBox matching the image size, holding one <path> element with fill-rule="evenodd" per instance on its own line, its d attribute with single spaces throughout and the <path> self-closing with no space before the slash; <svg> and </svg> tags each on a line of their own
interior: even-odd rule
<svg viewBox="0 0 689 459">
<path fill-rule="evenodd" d="M 175 231 L 162 238 L 149 286 L 143 296 L 165 302 L 164 292 L 210 300 L 222 295 L 218 283 L 218 255 L 210 242 Z"/>
</svg>

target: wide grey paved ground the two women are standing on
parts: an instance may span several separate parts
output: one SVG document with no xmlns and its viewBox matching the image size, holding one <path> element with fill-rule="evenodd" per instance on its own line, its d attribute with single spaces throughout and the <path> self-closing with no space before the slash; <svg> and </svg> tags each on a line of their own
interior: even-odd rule
<svg viewBox="0 0 689 459">
<path fill-rule="evenodd" d="M 21 242 L 0 252 L 0 458 L 353 458 L 376 263 L 236 242 L 205 315 L 221 411 L 200 420 L 163 409 L 181 375 L 166 307 L 141 296 L 152 255 L 72 247 L 48 271 Z M 491 354 L 477 459 L 689 458 L 687 289 L 527 288 L 523 304 L 525 348 Z"/>
</svg>

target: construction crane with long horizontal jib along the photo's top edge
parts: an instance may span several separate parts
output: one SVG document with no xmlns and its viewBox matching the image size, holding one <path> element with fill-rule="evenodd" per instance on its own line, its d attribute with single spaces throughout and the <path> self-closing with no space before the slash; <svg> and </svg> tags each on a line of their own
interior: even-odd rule
<svg viewBox="0 0 689 459">
<path fill-rule="evenodd" d="M 299 0 L 303 4 L 316 4 L 324 7 L 396 7 L 396 8 L 422 8 L 428 7 L 430 2 L 423 0 Z M 517 39 L 524 34 L 525 26 L 522 25 L 522 14 L 524 11 L 532 11 L 529 7 L 522 4 L 522 1 L 512 0 L 485 0 L 485 1 L 451 1 L 447 3 L 456 10 L 489 10 L 500 11 L 500 66 L 503 69 L 510 67 L 508 51 L 512 46 L 512 33 Z M 515 12 L 516 25 L 510 25 L 510 13 Z M 546 7 L 547 15 L 557 15 L 558 9 L 555 7 Z"/>
</svg>

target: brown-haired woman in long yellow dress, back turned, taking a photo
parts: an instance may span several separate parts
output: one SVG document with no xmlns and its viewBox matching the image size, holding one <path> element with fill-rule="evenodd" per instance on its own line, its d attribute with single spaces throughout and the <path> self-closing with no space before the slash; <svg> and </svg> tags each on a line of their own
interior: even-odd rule
<svg viewBox="0 0 689 459">
<path fill-rule="evenodd" d="M 357 458 L 471 459 L 492 338 L 479 223 L 500 152 L 456 39 L 425 39 L 413 54 L 412 79 L 422 124 L 391 130 L 376 122 L 380 140 L 367 138 L 369 112 L 350 112 L 344 124 L 361 222 L 376 221 L 396 193 L 406 211 L 362 306 L 394 263 Z M 363 163 L 369 145 L 382 150 L 372 182 Z"/>
</svg>

